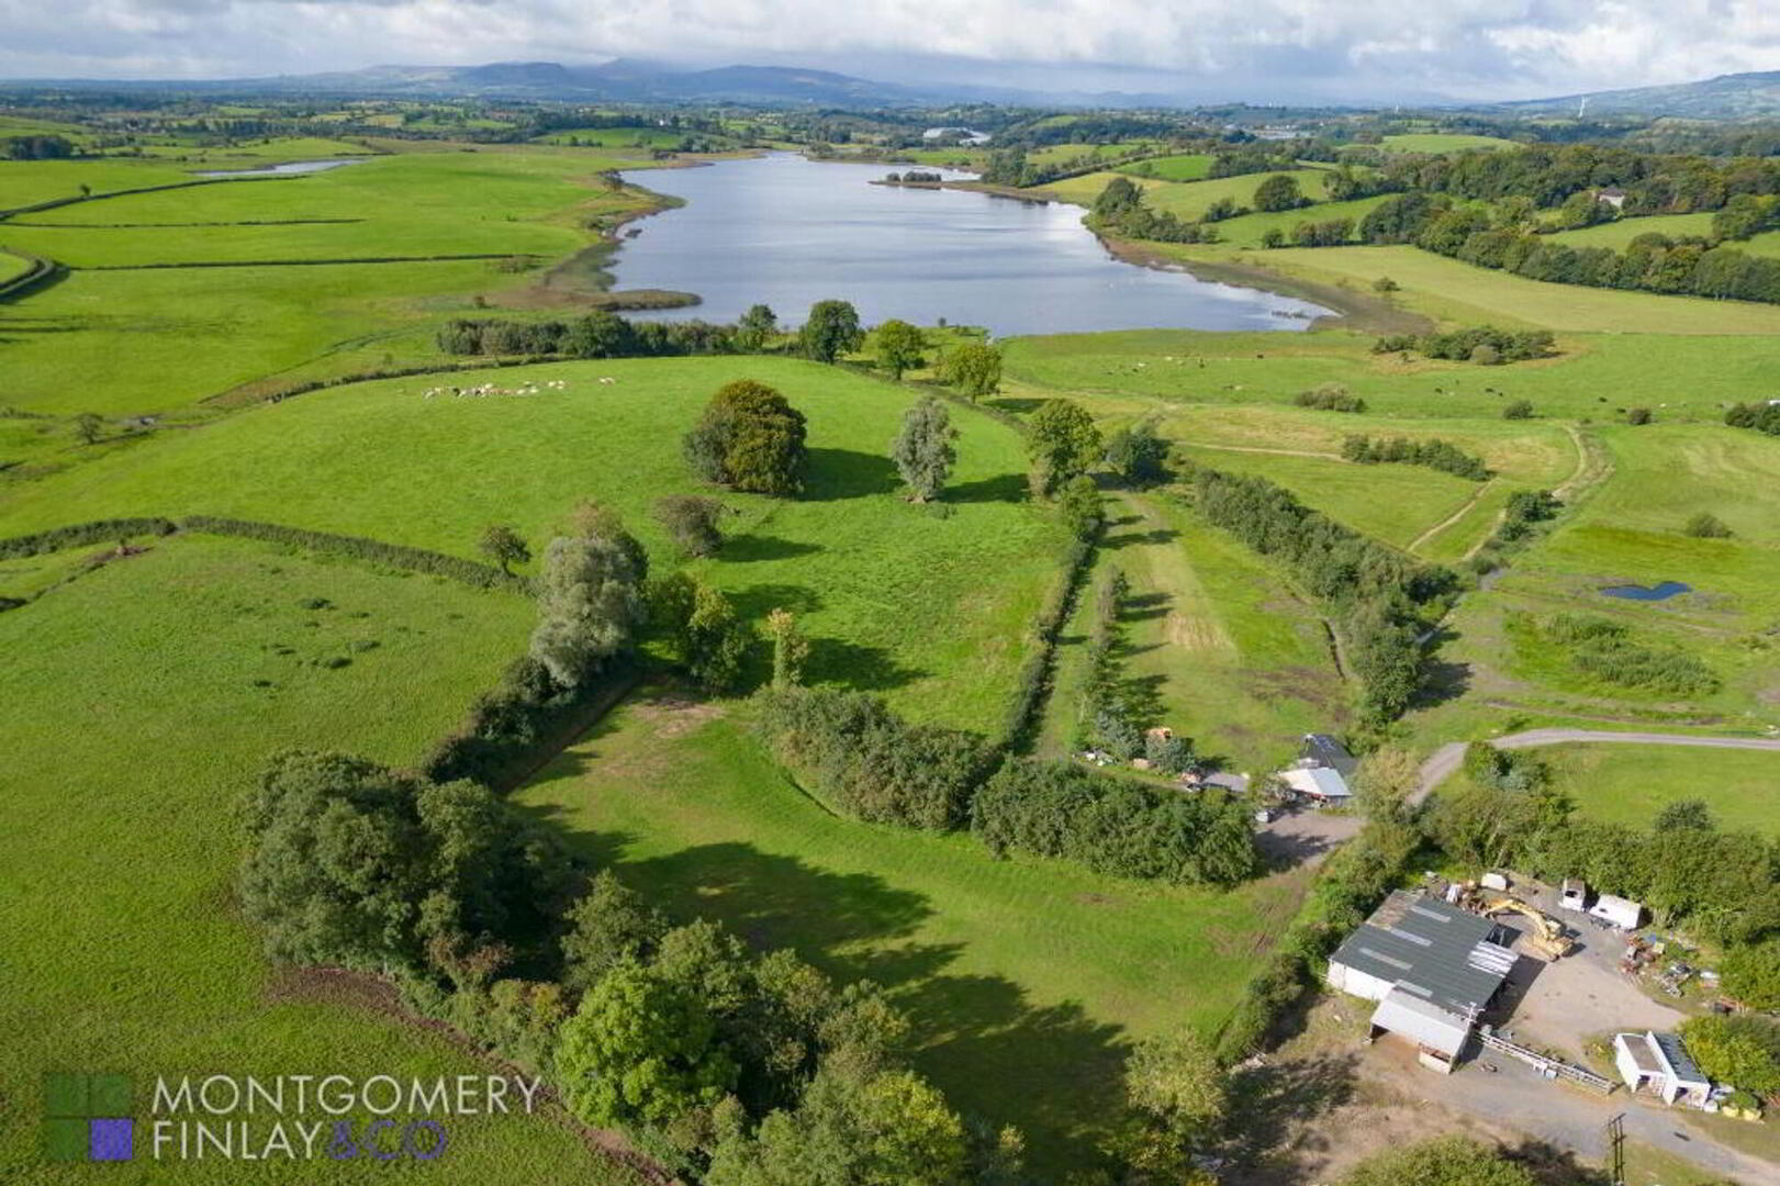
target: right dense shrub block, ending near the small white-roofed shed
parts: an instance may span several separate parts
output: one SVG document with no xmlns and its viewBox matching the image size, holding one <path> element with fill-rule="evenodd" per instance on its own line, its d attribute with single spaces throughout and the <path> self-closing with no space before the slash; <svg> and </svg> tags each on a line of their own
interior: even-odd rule
<svg viewBox="0 0 1780 1186">
<path fill-rule="evenodd" d="M 1257 867 L 1241 800 L 1161 791 L 1073 762 L 1007 762 L 977 791 L 970 823 L 995 853 L 1063 857 L 1121 878 L 1234 885 Z"/>
</svg>

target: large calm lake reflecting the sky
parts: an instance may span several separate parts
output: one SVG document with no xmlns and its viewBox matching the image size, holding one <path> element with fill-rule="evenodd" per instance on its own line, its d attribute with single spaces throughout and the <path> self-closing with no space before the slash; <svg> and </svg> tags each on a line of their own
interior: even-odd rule
<svg viewBox="0 0 1780 1186">
<path fill-rule="evenodd" d="M 894 169 L 774 153 L 630 171 L 625 180 L 687 205 L 632 224 L 641 233 L 616 255 L 616 287 L 703 297 L 651 319 L 733 321 L 764 301 L 796 324 L 815 301 L 840 297 L 867 324 L 945 317 L 995 335 L 1305 329 L 1328 312 L 1114 260 L 1080 207 L 870 183 Z"/>
</svg>

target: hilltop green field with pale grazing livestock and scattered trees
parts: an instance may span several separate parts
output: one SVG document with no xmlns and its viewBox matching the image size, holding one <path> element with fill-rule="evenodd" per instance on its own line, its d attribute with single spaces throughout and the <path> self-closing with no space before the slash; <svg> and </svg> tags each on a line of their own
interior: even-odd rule
<svg viewBox="0 0 1780 1186">
<path fill-rule="evenodd" d="M 819 671 L 879 686 L 927 716 L 993 728 L 1063 545 L 1048 515 L 1015 502 L 1022 442 L 988 417 L 954 411 L 963 436 L 952 515 L 940 518 L 902 502 L 885 456 L 915 394 L 815 363 L 559 363 L 312 392 L 21 484 L 0 509 L 0 534 L 210 513 L 473 556 L 486 524 L 514 524 L 541 548 L 578 499 L 595 497 L 623 511 L 668 563 L 650 506 L 698 488 L 680 436 L 735 378 L 780 386 L 810 417 L 813 472 L 797 500 L 728 497 L 740 515 L 708 575 L 748 616 L 778 605 L 806 614 Z M 513 390 L 552 379 L 568 388 L 424 397 L 438 385 Z"/>
</svg>

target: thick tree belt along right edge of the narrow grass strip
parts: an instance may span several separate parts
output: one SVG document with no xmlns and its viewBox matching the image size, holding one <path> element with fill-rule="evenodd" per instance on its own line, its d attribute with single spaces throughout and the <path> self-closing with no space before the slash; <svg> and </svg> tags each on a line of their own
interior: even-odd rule
<svg viewBox="0 0 1780 1186">
<path fill-rule="evenodd" d="M 1458 573 L 1374 543 L 1264 477 L 1191 465 L 1189 481 L 1210 524 L 1287 561 L 1328 605 L 1360 680 L 1365 721 L 1383 725 L 1401 716 L 1422 686 L 1417 639 L 1458 591 Z"/>
</svg>

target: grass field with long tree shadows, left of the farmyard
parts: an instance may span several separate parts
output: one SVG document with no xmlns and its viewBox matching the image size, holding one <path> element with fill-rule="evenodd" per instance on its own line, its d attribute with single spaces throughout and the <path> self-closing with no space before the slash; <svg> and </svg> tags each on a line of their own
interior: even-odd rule
<svg viewBox="0 0 1780 1186">
<path fill-rule="evenodd" d="M 1234 892 L 1118 881 L 838 819 L 737 707 L 673 696 L 621 707 L 514 801 L 671 910 L 888 985 L 922 1072 L 1020 1125 L 1041 1181 L 1088 1159 L 1123 1044 L 1219 1024 L 1301 890 L 1298 876 Z"/>
</svg>

